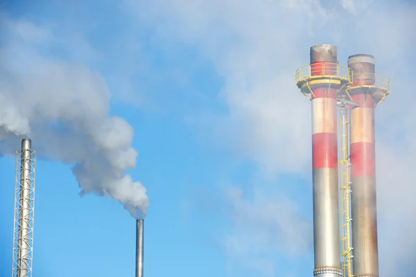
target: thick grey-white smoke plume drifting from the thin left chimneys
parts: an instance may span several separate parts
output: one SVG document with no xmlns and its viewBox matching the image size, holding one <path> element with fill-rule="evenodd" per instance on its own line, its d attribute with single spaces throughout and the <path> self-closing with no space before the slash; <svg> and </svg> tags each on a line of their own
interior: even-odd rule
<svg viewBox="0 0 416 277">
<path fill-rule="evenodd" d="M 126 174 L 136 166 L 134 130 L 110 115 L 101 74 L 33 51 L 51 43 L 49 29 L 0 19 L 0 154 L 14 154 L 28 137 L 38 155 L 72 165 L 80 195 L 112 197 L 133 217 L 146 216 L 146 188 Z"/>
</svg>

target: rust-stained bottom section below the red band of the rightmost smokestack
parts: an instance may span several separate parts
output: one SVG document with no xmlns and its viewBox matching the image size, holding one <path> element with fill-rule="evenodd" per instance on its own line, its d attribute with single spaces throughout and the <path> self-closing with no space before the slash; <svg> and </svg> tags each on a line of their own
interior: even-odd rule
<svg viewBox="0 0 416 277">
<path fill-rule="evenodd" d="M 354 276 L 379 276 L 375 177 L 352 178 Z"/>
</svg>

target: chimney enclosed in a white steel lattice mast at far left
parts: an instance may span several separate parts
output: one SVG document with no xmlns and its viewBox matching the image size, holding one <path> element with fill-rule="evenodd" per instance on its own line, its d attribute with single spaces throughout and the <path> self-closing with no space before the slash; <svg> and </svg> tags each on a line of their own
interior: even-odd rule
<svg viewBox="0 0 416 277">
<path fill-rule="evenodd" d="M 32 276 L 35 156 L 31 140 L 23 139 L 21 150 L 16 152 L 12 277 Z"/>
</svg>

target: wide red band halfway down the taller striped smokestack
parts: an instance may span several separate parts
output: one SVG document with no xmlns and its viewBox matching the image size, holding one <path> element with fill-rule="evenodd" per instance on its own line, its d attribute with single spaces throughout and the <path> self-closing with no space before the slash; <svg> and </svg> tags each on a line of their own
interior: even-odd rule
<svg viewBox="0 0 416 277">
<path fill-rule="evenodd" d="M 312 135 L 312 168 L 338 168 L 336 134 L 317 133 Z"/>
</svg>

